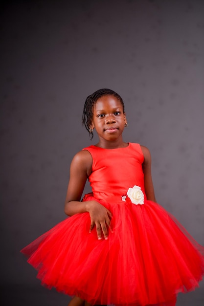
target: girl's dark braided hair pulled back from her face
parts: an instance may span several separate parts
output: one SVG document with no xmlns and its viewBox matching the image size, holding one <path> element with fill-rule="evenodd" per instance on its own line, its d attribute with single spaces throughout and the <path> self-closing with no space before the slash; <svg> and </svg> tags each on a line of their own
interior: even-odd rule
<svg viewBox="0 0 204 306">
<path fill-rule="evenodd" d="M 125 112 L 125 107 L 123 100 L 121 96 L 116 93 L 115 91 L 108 89 L 108 88 L 102 88 L 98 89 L 97 91 L 93 92 L 91 95 L 89 95 L 85 101 L 84 110 L 83 110 L 83 116 L 82 116 L 82 124 L 85 126 L 87 131 L 89 132 L 89 135 L 91 139 L 93 138 L 93 132 L 90 131 L 92 119 L 93 119 L 93 107 L 96 103 L 96 101 L 105 95 L 112 95 L 116 97 L 122 104 L 123 112 Z"/>
</svg>

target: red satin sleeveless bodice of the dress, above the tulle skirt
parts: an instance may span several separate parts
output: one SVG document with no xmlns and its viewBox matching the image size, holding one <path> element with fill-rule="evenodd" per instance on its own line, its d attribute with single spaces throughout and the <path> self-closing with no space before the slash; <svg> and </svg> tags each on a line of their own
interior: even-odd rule
<svg viewBox="0 0 204 306">
<path fill-rule="evenodd" d="M 128 189 L 136 185 L 141 187 L 146 198 L 142 171 L 144 155 L 139 144 L 129 143 L 127 147 L 118 149 L 90 146 L 83 150 L 92 156 L 89 181 L 94 197 L 119 203 Z"/>
</svg>

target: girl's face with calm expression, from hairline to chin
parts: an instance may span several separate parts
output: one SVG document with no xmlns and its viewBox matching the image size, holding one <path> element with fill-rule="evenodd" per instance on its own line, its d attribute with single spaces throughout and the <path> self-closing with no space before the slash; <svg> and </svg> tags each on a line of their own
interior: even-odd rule
<svg viewBox="0 0 204 306">
<path fill-rule="evenodd" d="M 96 130 L 100 140 L 122 140 L 125 123 L 123 106 L 116 97 L 104 95 L 96 101 L 91 129 Z"/>
</svg>

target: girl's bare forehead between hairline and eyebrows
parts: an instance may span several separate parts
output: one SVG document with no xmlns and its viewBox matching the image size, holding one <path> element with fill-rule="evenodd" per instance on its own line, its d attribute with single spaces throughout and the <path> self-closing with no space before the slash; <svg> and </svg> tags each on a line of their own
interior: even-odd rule
<svg viewBox="0 0 204 306">
<path fill-rule="evenodd" d="M 110 108 L 122 108 L 121 101 L 113 95 L 104 95 L 96 101 L 94 110 L 110 109 Z"/>
</svg>

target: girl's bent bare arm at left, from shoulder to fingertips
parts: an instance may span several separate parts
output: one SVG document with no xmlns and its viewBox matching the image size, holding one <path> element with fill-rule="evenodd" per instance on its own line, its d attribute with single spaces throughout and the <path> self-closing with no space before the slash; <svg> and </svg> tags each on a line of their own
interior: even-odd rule
<svg viewBox="0 0 204 306">
<path fill-rule="evenodd" d="M 86 180 L 91 174 L 91 167 L 92 157 L 87 150 L 80 151 L 74 156 L 70 166 L 70 178 L 65 201 L 65 213 L 68 216 L 73 216 L 78 213 L 89 212 L 91 218 L 90 232 L 93 227 L 96 226 L 98 239 L 102 239 L 101 229 L 104 234 L 104 238 L 108 239 L 106 224 L 111 229 L 111 212 L 97 201 L 80 201 Z"/>
</svg>

